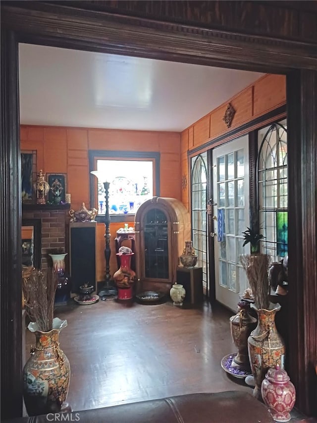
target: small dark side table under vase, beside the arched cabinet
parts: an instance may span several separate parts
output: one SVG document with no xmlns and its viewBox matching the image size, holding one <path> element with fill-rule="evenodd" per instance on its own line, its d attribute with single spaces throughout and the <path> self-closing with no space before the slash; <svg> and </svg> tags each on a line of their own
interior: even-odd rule
<svg viewBox="0 0 317 423">
<path fill-rule="evenodd" d="M 176 280 L 183 285 L 186 291 L 184 303 L 194 306 L 202 304 L 203 295 L 203 268 L 182 267 L 176 269 Z"/>
</svg>

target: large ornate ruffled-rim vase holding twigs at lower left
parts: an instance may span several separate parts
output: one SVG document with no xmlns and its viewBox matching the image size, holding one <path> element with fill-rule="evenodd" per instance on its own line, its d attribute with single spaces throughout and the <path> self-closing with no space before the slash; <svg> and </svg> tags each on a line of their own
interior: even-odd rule
<svg viewBox="0 0 317 423">
<path fill-rule="evenodd" d="M 29 323 L 28 329 L 36 337 L 23 368 L 23 397 L 29 416 L 50 413 L 56 406 L 60 409 L 67 398 L 70 366 L 58 341 L 59 332 L 66 326 L 67 321 L 57 317 L 49 332 L 41 332 L 37 323 Z"/>
</svg>

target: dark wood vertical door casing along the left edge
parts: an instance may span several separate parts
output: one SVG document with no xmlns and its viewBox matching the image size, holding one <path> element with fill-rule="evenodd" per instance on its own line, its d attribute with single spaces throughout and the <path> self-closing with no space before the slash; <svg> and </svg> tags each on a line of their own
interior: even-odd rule
<svg viewBox="0 0 317 423">
<path fill-rule="evenodd" d="M 12 415 L 22 415 L 21 152 L 17 57 L 15 34 L 1 28 L 1 421 Z"/>
</svg>

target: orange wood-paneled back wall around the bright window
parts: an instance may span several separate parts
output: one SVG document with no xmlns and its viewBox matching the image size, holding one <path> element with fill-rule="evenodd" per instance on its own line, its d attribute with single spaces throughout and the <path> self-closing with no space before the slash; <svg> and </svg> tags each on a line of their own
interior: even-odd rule
<svg viewBox="0 0 317 423">
<path fill-rule="evenodd" d="M 160 152 L 160 196 L 180 200 L 180 134 L 177 132 L 129 131 L 55 126 L 21 125 L 21 150 L 36 150 L 37 172 L 67 175 L 67 192 L 71 208 L 78 210 L 84 202 L 90 208 L 89 150 Z M 134 226 L 134 216 L 129 226 Z M 110 273 L 117 270 L 116 231 L 124 223 L 110 223 Z M 97 226 L 97 279 L 105 275 L 105 225 Z"/>
</svg>

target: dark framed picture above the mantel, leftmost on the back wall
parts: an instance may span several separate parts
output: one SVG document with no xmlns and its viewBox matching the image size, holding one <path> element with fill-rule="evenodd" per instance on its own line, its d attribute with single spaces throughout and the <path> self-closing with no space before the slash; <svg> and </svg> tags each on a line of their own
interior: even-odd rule
<svg viewBox="0 0 317 423">
<path fill-rule="evenodd" d="M 31 203 L 35 197 L 33 184 L 36 181 L 36 150 L 21 151 L 22 202 Z"/>
</svg>

